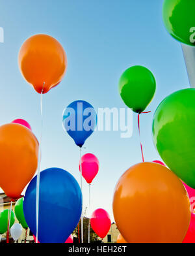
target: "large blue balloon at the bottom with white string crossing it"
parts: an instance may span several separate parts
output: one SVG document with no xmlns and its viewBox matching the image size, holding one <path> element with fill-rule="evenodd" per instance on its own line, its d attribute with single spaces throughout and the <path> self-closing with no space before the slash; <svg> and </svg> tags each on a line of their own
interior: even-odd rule
<svg viewBox="0 0 195 256">
<path fill-rule="evenodd" d="M 79 223 L 82 194 L 72 174 L 60 168 L 40 172 L 38 241 L 64 243 Z M 25 220 L 36 236 L 36 176 L 23 201 Z"/>
</svg>

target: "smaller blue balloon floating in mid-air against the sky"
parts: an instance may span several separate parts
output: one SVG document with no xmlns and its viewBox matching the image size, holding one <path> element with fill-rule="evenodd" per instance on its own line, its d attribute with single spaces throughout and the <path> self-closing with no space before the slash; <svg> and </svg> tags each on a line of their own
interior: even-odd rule
<svg viewBox="0 0 195 256">
<path fill-rule="evenodd" d="M 73 101 L 63 112 L 63 127 L 80 148 L 97 124 L 97 114 L 86 101 Z"/>
</svg>

